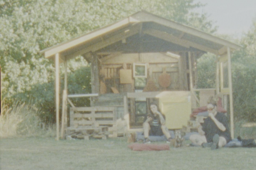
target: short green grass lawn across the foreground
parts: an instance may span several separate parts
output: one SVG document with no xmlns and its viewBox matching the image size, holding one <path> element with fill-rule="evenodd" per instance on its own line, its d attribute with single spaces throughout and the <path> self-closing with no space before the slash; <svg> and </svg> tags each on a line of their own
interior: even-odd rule
<svg viewBox="0 0 256 170">
<path fill-rule="evenodd" d="M 256 148 L 198 147 L 136 152 L 127 138 L 61 140 L 5 138 L 0 168 L 5 169 L 256 169 Z M 163 142 L 162 142 L 163 143 Z M 157 143 L 161 144 L 161 143 Z"/>
</svg>

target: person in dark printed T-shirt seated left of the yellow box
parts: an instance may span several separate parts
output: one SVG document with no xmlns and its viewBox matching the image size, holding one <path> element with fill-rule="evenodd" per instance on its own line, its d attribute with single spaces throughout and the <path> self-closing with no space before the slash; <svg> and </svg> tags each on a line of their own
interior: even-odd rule
<svg viewBox="0 0 256 170">
<path fill-rule="evenodd" d="M 150 103 L 151 115 L 148 116 L 146 121 L 143 123 L 144 137 L 143 143 L 150 143 L 149 135 L 161 136 L 165 135 L 167 143 L 171 142 L 171 135 L 165 126 L 165 116 L 158 111 L 155 103 Z"/>
</svg>

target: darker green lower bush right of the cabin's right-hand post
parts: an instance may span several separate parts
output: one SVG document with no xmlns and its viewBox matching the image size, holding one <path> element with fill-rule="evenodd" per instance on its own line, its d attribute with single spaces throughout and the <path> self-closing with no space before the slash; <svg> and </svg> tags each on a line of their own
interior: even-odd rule
<svg viewBox="0 0 256 170">
<path fill-rule="evenodd" d="M 237 54 L 236 54 L 237 55 Z M 256 121 L 256 58 L 236 58 L 232 64 L 232 87 L 235 119 Z"/>
</svg>

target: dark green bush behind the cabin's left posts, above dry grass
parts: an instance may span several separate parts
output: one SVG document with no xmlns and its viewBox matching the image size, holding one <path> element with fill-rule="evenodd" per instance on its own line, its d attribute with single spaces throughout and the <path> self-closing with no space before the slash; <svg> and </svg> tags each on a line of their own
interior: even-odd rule
<svg viewBox="0 0 256 170">
<path fill-rule="evenodd" d="M 77 70 L 73 70 L 71 67 L 70 73 L 67 76 L 67 85 L 69 94 L 86 94 L 91 93 L 91 67 L 80 67 Z M 61 76 L 61 89 L 60 89 L 60 108 L 62 111 L 62 92 L 64 89 L 64 75 Z M 24 103 L 32 103 L 40 109 L 40 119 L 44 123 L 52 124 L 56 122 L 56 108 L 55 108 L 55 82 L 54 80 L 44 83 L 33 85 L 30 90 L 26 90 L 23 93 L 18 93 L 13 97 L 5 99 L 8 100 L 10 105 L 14 104 L 14 101 L 21 101 Z M 88 98 L 76 98 L 70 99 L 76 106 L 89 106 L 90 100 Z"/>
</svg>

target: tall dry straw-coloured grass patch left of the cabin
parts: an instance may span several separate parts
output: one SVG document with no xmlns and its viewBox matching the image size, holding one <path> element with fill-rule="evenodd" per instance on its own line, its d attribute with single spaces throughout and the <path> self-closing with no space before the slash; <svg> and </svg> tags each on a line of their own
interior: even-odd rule
<svg viewBox="0 0 256 170">
<path fill-rule="evenodd" d="M 53 137 L 54 127 L 44 126 L 33 105 L 16 103 L 12 108 L 1 103 L 0 138 L 8 137 Z"/>
</svg>

